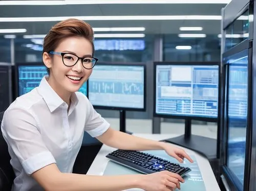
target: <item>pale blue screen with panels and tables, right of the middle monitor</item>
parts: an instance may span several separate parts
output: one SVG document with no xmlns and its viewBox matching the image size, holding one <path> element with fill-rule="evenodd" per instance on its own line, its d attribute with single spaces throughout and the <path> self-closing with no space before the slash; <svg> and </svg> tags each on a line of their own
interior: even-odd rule
<svg viewBox="0 0 256 191">
<path fill-rule="evenodd" d="M 157 65 L 156 113 L 218 115 L 218 65 Z"/>
</svg>

